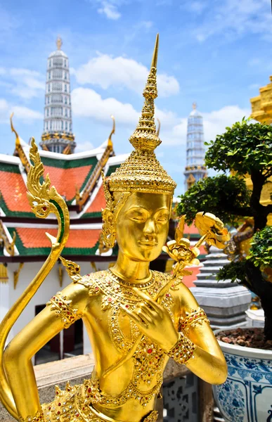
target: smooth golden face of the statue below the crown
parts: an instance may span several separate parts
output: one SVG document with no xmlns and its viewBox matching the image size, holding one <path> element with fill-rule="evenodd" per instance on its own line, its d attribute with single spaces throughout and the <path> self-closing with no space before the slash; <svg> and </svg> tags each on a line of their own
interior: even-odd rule
<svg viewBox="0 0 272 422">
<path fill-rule="evenodd" d="M 131 260 L 155 260 L 167 240 L 170 210 L 170 195 L 132 193 L 117 217 L 119 250 Z"/>
</svg>

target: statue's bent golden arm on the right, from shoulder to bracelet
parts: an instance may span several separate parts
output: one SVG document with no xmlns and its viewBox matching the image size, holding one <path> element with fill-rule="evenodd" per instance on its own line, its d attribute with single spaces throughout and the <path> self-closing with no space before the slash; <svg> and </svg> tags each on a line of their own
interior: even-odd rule
<svg viewBox="0 0 272 422">
<path fill-rule="evenodd" d="M 188 314 L 197 310 L 199 305 L 190 290 L 181 284 L 181 320 L 186 320 Z M 186 312 L 188 314 L 186 315 Z M 200 314 L 197 314 L 200 316 Z M 189 359 L 186 366 L 195 375 L 211 384 L 221 384 L 226 381 L 228 366 L 224 354 L 209 326 L 207 318 L 197 319 L 195 324 L 188 324 L 185 335 L 196 346 L 193 359 Z M 182 330 L 182 328 L 181 328 Z"/>
</svg>

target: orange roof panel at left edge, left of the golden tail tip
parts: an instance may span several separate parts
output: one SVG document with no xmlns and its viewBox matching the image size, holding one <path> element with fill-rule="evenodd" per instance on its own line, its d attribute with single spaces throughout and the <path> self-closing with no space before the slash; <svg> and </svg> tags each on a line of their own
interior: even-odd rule
<svg viewBox="0 0 272 422">
<path fill-rule="evenodd" d="M 27 188 L 22 175 L 0 170 L 0 181 L 1 196 L 8 209 L 14 212 L 31 212 L 27 200 Z"/>
</svg>

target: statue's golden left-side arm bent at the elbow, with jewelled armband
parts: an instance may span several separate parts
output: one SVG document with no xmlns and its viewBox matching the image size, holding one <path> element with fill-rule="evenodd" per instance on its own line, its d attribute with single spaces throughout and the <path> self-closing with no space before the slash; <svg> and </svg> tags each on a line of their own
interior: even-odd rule
<svg viewBox="0 0 272 422">
<path fill-rule="evenodd" d="M 61 302 L 61 297 L 65 297 Z M 55 298 L 55 299 L 54 299 Z M 11 387 L 19 416 L 25 420 L 39 409 L 39 395 L 32 366 L 32 356 L 54 335 L 84 315 L 89 300 L 88 290 L 79 283 L 71 283 L 51 299 L 51 302 L 30 321 L 8 344 L 4 351 L 4 369 Z M 70 302 L 71 301 L 71 302 Z M 61 302 L 61 305 L 59 304 Z M 55 307 L 54 304 L 58 303 Z M 58 309 L 65 307 L 63 312 Z M 70 309 L 68 309 L 68 307 Z M 71 312 L 74 309 L 70 321 Z M 77 311 L 75 312 L 75 309 Z"/>
</svg>

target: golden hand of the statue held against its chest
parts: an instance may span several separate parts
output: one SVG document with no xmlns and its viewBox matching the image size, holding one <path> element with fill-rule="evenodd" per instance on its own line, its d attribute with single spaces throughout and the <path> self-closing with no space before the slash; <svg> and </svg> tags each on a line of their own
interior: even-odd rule
<svg viewBox="0 0 272 422">
<path fill-rule="evenodd" d="M 169 313 L 162 305 L 138 288 L 134 288 L 134 291 L 143 299 L 143 302 L 139 303 L 133 311 L 124 306 L 122 309 L 133 319 L 143 334 L 160 345 L 165 352 L 168 352 L 179 340 L 179 333 L 176 331 Z"/>
</svg>

